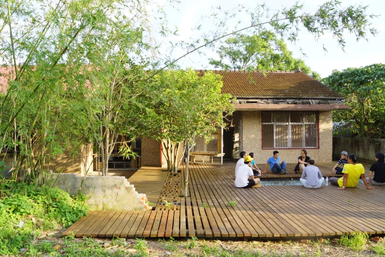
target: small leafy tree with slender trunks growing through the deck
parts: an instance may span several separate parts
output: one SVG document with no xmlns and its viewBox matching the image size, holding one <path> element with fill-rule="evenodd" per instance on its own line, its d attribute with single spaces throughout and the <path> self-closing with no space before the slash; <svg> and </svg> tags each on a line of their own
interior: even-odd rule
<svg viewBox="0 0 385 257">
<path fill-rule="evenodd" d="M 190 156 L 197 137 L 209 140 L 212 131 L 226 127 L 223 119 L 232 114 L 234 105 L 229 94 L 221 94 L 222 77 L 210 71 L 166 70 L 154 76 L 151 84 L 161 90 L 144 116 L 160 124 L 151 137 L 162 142 L 168 170 L 176 171 L 179 145 L 183 143 L 184 156 Z"/>
</svg>

